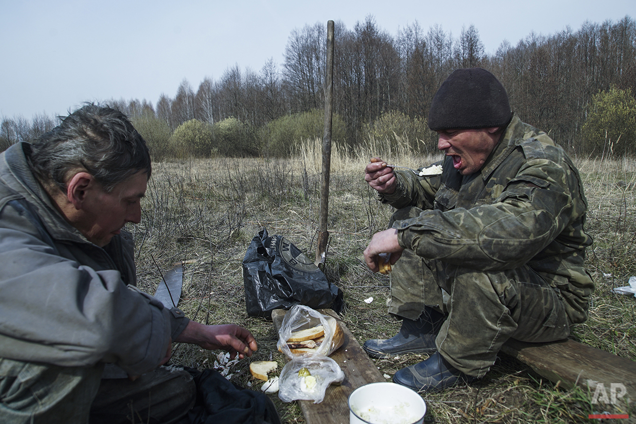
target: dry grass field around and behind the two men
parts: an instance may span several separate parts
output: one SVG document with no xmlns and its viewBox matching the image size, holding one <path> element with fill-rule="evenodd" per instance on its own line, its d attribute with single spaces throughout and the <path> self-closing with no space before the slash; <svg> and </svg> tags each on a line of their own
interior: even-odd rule
<svg viewBox="0 0 636 424">
<path fill-rule="evenodd" d="M 320 140 L 308 142 L 293 159 L 209 159 L 157 163 L 142 205 L 135 235 L 139 285 L 154 293 L 162 272 L 172 263 L 191 260 L 184 273 L 181 303 L 190 317 L 209 324 L 233 322 L 252 331 L 259 350 L 252 359 L 228 365 L 232 381 L 251 386 L 249 361 L 270 359 L 284 364 L 275 347 L 271 321 L 245 312 L 241 262 L 249 242 L 266 228 L 284 235 L 313 257 L 318 229 Z M 369 145 L 356 157 L 338 149 L 331 156 L 329 192 L 330 241 L 324 272 L 345 293 L 342 318 L 360 342 L 386 338 L 399 329 L 387 315 L 389 279 L 371 273 L 363 250 L 372 234 L 387 225 L 392 210 L 379 204 L 363 180 L 371 156 L 417 167 L 437 157 L 414 157 Z M 577 159 L 589 202 L 587 230 L 594 237 L 589 270 L 597 284 L 590 319 L 576 326 L 572 338 L 612 354 L 636 360 L 636 298 L 616 295 L 636 275 L 636 162 Z M 372 303 L 363 299 L 373 296 Z M 188 345 L 174 348 L 174 362 L 214 368 L 219 352 Z M 376 360 L 383 374 L 422 361 L 420 355 Z M 258 390 L 256 383 L 254 387 Z M 634 397 L 635 394 L 632 394 Z M 506 355 L 487 376 L 471 385 L 424 395 L 427 422 L 438 423 L 578 423 L 588 414 L 618 412 L 612 405 L 591 404 L 580 388 L 562 390 Z M 272 399 L 284 423 L 304 423 L 295 402 Z M 612 409 L 614 408 L 614 409 Z M 636 411 L 629 411 L 632 416 Z M 620 420 L 625 422 L 625 420 Z"/>
</svg>

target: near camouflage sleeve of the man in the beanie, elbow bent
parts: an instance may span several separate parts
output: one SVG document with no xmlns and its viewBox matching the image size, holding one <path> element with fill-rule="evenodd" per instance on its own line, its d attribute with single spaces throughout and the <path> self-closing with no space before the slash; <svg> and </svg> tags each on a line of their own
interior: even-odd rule
<svg viewBox="0 0 636 424">
<path fill-rule="evenodd" d="M 519 267 L 579 218 L 569 188 L 573 173 L 548 159 L 528 161 L 492 204 L 424 211 L 396 222 L 399 244 L 462 267 Z"/>
</svg>

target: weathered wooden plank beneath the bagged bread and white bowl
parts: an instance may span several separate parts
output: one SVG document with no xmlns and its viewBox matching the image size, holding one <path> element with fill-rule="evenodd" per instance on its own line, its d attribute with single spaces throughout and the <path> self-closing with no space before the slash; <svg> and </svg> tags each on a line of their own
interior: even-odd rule
<svg viewBox="0 0 636 424">
<path fill-rule="evenodd" d="M 307 424 L 346 424 L 349 423 L 349 406 L 347 405 L 349 394 L 365 384 L 386 380 L 360 347 L 351 331 L 340 320 L 340 316 L 331 309 L 319 309 L 319 312 L 331 315 L 338 320 L 345 335 L 342 346 L 330 356 L 342 369 L 345 380 L 340 386 L 328 387 L 324 401 L 319 404 L 314 404 L 313 401 L 298 402 Z M 272 312 L 272 320 L 277 331 L 280 329 L 285 313 L 286 311 L 282 309 Z"/>
</svg>

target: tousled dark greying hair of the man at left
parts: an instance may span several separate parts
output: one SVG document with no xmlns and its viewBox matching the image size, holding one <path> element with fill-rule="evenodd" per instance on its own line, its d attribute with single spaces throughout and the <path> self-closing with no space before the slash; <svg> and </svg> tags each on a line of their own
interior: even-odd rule
<svg viewBox="0 0 636 424">
<path fill-rule="evenodd" d="M 106 192 L 139 171 L 150 178 L 142 136 L 120 110 L 86 103 L 32 145 L 29 163 L 38 179 L 66 192 L 71 172 L 86 171 Z"/>
</svg>

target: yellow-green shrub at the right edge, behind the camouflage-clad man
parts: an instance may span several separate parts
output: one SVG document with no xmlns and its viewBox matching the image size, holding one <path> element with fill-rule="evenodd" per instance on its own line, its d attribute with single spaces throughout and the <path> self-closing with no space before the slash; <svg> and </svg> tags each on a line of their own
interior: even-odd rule
<svg viewBox="0 0 636 424">
<path fill-rule="evenodd" d="M 636 99 L 631 89 L 612 87 L 593 96 L 583 140 L 588 153 L 636 153 Z"/>
</svg>

